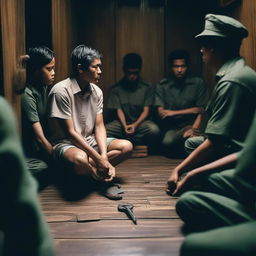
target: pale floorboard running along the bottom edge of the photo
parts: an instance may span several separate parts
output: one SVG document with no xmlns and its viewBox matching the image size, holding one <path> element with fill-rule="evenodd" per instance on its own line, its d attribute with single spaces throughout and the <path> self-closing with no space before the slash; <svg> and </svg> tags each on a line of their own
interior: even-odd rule
<svg viewBox="0 0 256 256">
<path fill-rule="evenodd" d="M 174 256 L 179 255 L 182 238 L 141 239 L 56 239 L 57 255 L 62 256 Z"/>
</svg>

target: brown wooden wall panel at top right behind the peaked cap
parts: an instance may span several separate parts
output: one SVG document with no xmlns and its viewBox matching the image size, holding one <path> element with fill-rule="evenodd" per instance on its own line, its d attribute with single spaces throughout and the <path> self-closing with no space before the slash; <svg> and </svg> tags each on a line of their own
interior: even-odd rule
<svg viewBox="0 0 256 256">
<path fill-rule="evenodd" d="M 233 16 L 249 31 L 248 38 L 243 41 L 241 55 L 245 57 L 248 65 L 256 70 L 256 1 L 243 0 L 241 6 L 234 10 Z"/>
</svg>

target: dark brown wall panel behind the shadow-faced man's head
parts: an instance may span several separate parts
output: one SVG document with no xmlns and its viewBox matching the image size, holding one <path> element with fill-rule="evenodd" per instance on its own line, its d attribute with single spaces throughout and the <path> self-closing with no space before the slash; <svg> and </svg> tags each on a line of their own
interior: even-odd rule
<svg viewBox="0 0 256 256">
<path fill-rule="evenodd" d="M 164 74 L 164 8 L 120 7 L 116 12 L 116 80 L 123 76 L 122 59 L 142 56 L 142 77 L 157 83 Z"/>
</svg>

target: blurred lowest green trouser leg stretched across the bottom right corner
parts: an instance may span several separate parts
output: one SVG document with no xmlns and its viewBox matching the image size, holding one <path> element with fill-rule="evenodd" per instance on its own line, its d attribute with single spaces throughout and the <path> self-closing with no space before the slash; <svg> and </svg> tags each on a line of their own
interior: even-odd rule
<svg viewBox="0 0 256 256">
<path fill-rule="evenodd" d="M 256 221 L 190 234 L 182 244 L 180 255 L 254 256 Z"/>
</svg>

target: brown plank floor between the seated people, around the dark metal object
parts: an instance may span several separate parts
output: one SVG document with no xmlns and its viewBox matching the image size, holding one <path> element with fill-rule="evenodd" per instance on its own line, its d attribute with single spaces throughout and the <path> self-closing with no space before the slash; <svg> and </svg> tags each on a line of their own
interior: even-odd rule
<svg viewBox="0 0 256 256">
<path fill-rule="evenodd" d="M 40 193 L 43 212 L 54 238 L 57 255 L 179 255 L 183 240 L 176 199 L 164 188 L 170 170 L 179 160 L 162 156 L 131 158 L 117 167 L 125 190 L 112 201 L 92 192 L 78 201 L 67 201 L 54 186 Z M 134 225 L 117 205 L 134 205 Z"/>
</svg>

